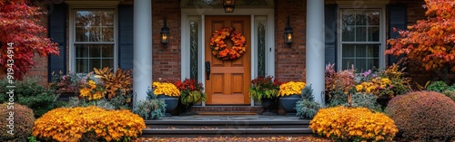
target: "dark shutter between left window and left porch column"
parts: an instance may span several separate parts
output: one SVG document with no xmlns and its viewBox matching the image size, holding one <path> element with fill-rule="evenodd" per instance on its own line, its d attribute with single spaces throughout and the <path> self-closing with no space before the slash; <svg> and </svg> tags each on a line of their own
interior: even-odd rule
<svg viewBox="0 0 455 142">
<path fill-rule="evenodd" d="M 133 69 L 133 5 L 118 5 L 118 65 Z"/>
</svg>

